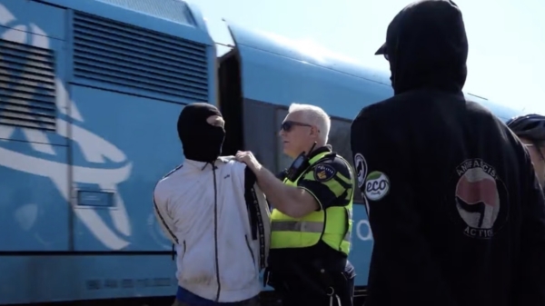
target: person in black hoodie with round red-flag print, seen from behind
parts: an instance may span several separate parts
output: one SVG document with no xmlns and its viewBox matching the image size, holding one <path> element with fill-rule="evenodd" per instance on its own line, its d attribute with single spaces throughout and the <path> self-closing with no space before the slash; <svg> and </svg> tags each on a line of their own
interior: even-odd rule
<svg viewBox="0 0 545 306">
<path fill-rule="evenodd" d="M 374 238 L 365 305 L 545 305 L 543 193 L 518 138 L 461 92 L 458 6 L 408 5 L 377 54 L 394 96 L 351 128 Z"/>
</svg>

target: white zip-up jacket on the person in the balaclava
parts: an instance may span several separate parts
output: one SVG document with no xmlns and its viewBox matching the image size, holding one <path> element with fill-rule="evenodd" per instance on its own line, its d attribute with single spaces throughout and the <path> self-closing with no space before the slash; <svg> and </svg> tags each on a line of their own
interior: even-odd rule
<svg viewBox="0 0 545 306">
<path fill-rule="evenodd" d="M 270 211 L 255 176 L 233 156 L 185 160 L 155 186 L 154 211 L 176 247 L 178 284 L 210 301 L 251 299 L 262 290 Z"/>
</svg>

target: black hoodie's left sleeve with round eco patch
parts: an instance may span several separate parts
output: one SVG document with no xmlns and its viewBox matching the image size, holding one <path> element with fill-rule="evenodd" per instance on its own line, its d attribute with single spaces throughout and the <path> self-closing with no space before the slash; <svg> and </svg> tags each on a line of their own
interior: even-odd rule
<svg viewBox="0 0 545 306">
<path fill-rule="evenodd" d="M 422 216 L 408 181 L 412 149 L 402 147 L 402 128 L 374 106 L 362 109 L 351 127 L 358 187 L 374 238 L 369 290 L 392 305 L 407 297 L 415 305 L 455 305 L 421 234 Z"/>
</svg>

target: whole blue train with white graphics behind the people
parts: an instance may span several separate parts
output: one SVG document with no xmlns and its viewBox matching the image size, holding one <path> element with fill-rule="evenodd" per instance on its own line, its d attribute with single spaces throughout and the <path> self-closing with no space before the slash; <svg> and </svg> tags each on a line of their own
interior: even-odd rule
<svg viewBox="0 0 545 306">
<path fill-rule="evenodd" d="M 352 118 L 392 94 L 383 72 L 230 30 L 236 45 L 216 61 L 202 15 L 180 0 L 0 0 L 0 304 L 173 295 L 151 194 L 183 160 L 184 104 L 219 101 L 224 153 L 249 149 L 279 171 L 289 104 L 321 106 L 333 148 L 350 156 Z M 353 231 L 362 294 L 372 251 L 362 205 Z"/>
</svg>

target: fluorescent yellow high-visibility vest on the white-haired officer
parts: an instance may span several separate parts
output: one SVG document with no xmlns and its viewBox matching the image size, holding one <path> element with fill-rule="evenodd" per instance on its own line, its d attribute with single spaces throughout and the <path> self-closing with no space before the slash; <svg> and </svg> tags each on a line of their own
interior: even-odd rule
<svg viewBox="0 0 545 306">
<path fill-rule="evenodd" d="M 312 157 L 309 161 L 312 168 L 314 163 L 322 160 L 330 152 L 319 153 Z M 341 158 L 341 156 L 337 155 Z M 352 236 L 352 202 L 353 202 L 353 173 L 350 163 L 342 159 L 349 167 L 352 174 L 352 179 L 349 179 L 341 173 L 336 173 L 337 179 L 351 186 L 346 190 L 346 200 L 348 204 L 345 206 L 332 206 L 325 211 L 311 212 L 302 218 L 292 218 L 277 209 L 273 209 L 271 213 L 271 249 L 287 249 L 287 248 L 305 248 L 315 245 L 322 241 L 332 247 L 333 250 L 343 252 L 348 255 L 351 246 Z M 312 176 L 312 172 L 305 170 L 295 182 L 285 179 L 283 182 L 287 185 L 297 186 L 297 182 L 306 176 Z M 328 182 L 335 180 L 334 178 Z M 330 187 L 327 182 L 323 183 Z M 331 190 L 331 187 L 330 187 Z M 337 196 L 339 191 L 334 192 Z"/>
</svg>

